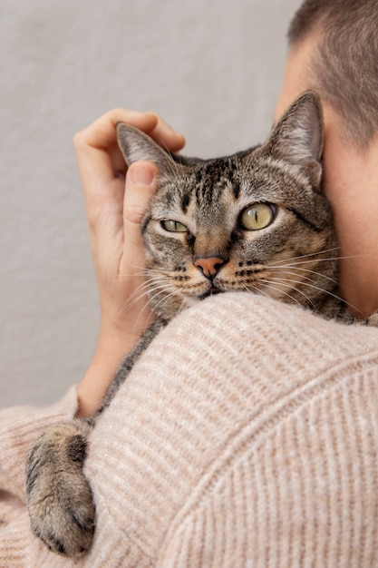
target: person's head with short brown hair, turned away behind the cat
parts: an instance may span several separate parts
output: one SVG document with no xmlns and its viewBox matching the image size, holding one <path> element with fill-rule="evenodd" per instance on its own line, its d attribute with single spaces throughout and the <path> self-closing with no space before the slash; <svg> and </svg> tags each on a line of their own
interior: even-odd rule
<svg viewBox="0 0 378 568">
<path fill-rule="evenodd" d="M 324 189 L 334 208 L 344 298 L 378 308 L 378 2 L 304 0 L 288 30 L 276 118 L 299 93 L 320 94 Z M 356 310 L 357 311 L 357 310 Z"/>
</svg>

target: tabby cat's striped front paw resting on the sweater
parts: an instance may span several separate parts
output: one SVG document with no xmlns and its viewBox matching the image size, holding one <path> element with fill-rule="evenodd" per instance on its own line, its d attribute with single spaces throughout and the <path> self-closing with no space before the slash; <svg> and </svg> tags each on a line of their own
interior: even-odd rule
<svg viewBox="0 0 378 568">
<path fill-rule="evenodd" d="M 72 557 L 89 549 L 94 533 L 92 492 L 82 475 L 89 430 L 80 420 L 50 426 L 26 465 L 32 530 L 50 550 Z"/>
</svg>

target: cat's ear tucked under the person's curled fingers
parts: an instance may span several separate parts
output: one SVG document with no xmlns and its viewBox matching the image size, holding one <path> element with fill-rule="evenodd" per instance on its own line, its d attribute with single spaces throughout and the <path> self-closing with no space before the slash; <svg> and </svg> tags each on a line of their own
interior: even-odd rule
<svg viewBox="0 0 378 568">
<path fill-rule="evenodd" d="M 163 150 L 150 136 L 130 124 L 118 122 L 117 141 L 128 166 L 139 160 L 147 160 L 154 163 L 162 173 L 172 171 L 173 159 L 169 152 Z"/>
</svg>

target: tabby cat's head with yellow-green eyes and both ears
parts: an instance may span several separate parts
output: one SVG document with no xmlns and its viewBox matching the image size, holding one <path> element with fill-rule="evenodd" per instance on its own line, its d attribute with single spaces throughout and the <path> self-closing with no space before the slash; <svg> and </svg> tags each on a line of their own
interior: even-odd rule
<svg viewBox="0 0 378 568">
<path fill-rule="evenodd" d="M 128 165 L 155 163 L 159 190 L 142 223 L 150 298 L 160 318 L 228 290 L 319 307 L 337 270 L 332 213 L 321 191 L 323 120 L 302 94 L 256 148 L 183 159 L 120 123 Z"/>
</svg>

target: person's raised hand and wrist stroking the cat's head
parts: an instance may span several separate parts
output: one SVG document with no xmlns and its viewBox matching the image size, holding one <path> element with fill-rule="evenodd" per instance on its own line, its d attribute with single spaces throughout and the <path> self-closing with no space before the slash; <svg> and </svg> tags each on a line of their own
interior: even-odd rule
<svg viewBox="0 0 378 568">
<path fill-rule="evenodd" d="M 101 305 L 98 345 L 78 386 L 82 416 L 100 406 L 122 357 L 151 323 L 140 222 L 157 188 L 158 171 L 150 162 L 136 162 L 126 175 L 117 122 L 136 126 L 171 152 L 185 143 L 159 115 L 123 109 L 104 114 L 74 137 Z"/>
</svg>

